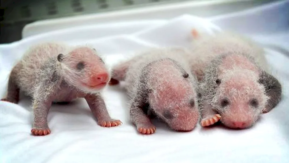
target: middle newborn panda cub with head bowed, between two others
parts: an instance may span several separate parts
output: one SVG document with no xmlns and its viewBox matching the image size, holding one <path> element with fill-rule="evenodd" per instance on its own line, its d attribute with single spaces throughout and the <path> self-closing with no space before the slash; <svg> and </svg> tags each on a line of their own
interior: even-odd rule
<svg viewBox="0 0 289 163">
<path fill-rule="evenodd" d="M 158 117 L 171 129 L 191 131 L 199 120 L 197 82 L 181 48 L 153 49 L 116 65 L 111 85 L 125 81 L 131 121 L 139 133 L 156 131 Z"/>
</svg>

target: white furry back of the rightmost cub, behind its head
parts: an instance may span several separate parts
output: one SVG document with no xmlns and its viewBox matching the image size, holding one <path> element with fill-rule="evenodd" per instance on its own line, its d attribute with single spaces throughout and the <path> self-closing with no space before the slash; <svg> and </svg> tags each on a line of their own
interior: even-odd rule
<svg viewBox="0 0 289 163">
<path fill-rule="evenodd" d="M 214 36 L 200 34 L 192 42 L 189 62 L 197 78 L 201 79 L 205 67 L 216 57 L 222 54 L 246 54 L 252 56 L 265 71 L 269 71 L 264 50 L 257 44 L 239 34 L 220 32 Z"/>
</svg>

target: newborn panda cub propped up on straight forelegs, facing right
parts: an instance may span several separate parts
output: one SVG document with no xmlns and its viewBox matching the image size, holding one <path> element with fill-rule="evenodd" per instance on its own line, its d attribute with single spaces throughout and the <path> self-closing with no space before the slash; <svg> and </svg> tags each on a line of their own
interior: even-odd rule
<svg viewBox="0 0 289 163">
<path fill-rule="evenodd" d="M 51 132 L 47 114 L 52 103 L 76 98 L 85 98 L 99 125 L 118 126 L 121 121 L 110 118 L 100 94 L 109 80 L 110 74 L 95 49 L 42 43 L 31 47 L 13 67 L 8 94 L 2 100 L 17 104 L 19 91 L 32 97 L 33 135 Z"/>
</svg>

